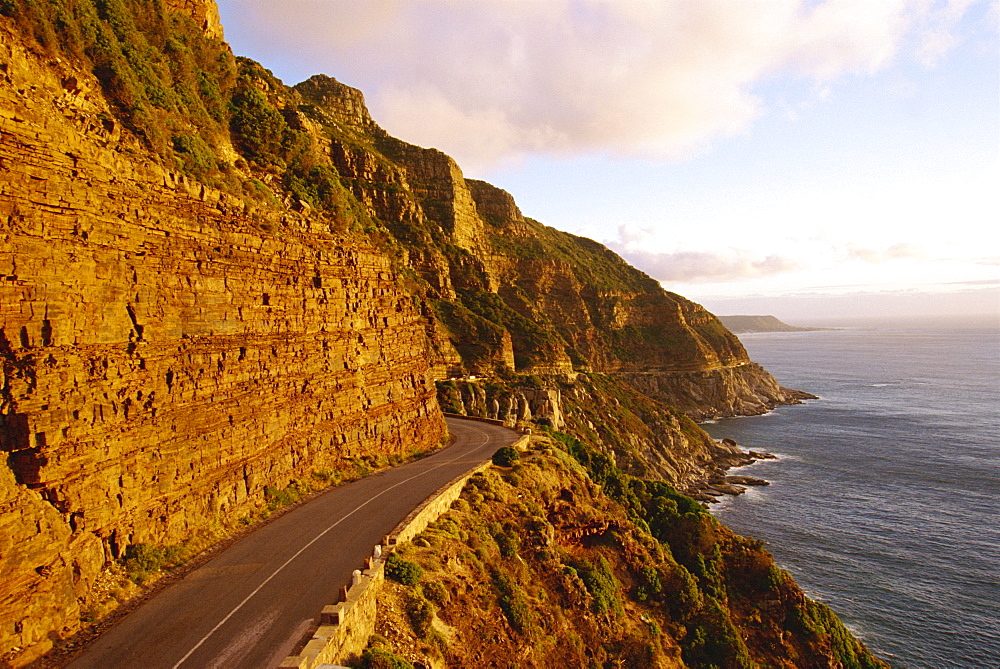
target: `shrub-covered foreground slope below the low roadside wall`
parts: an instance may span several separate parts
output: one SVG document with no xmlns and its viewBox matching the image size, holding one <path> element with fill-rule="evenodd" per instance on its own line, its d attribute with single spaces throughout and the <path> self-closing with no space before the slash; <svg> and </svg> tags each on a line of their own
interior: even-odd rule
<svg viewBox="0 0 1000 669">
<path fill-rule="evenodd" d="M 425 666 L 884 666 L 760 542 L 666 484 L 558 433 L 512 464 L 473 477 L 404 547 L 422 575 L 380 603 L 379 653 Z"/>
</svg>

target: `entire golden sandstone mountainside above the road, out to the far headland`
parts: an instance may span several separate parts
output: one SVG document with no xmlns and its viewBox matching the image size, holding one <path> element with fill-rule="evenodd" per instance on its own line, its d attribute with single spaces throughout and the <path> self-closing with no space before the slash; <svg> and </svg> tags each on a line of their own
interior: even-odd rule
<svg viewBox="0 0 1000 669">
<path fill-rule="evenodd" d="M 700 306 L 221 38 L 211 0 L 0 0 L 0 654 L 77 629 L 130 547 L 436 446 L 435 379 L 530 387 L 522 418 L 677 483 L 718 448 L 690 416 L 795 400 Z"/>
</svg>

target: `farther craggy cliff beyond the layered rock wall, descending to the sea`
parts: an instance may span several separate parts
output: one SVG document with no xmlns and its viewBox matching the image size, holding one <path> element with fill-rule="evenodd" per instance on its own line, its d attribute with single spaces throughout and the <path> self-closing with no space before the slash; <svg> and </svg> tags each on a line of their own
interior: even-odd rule
<svg viewBox="0 0 1000 669">
<path fill-rule="evenodd" d="M 295 90 L 344 183 L 422 280 L 452 344 L 439 347 L 450 357 L 435 359 L 438 378 L 616 373 L 699 418 L 800 397 L 699 305 L 600 244 L 524 217 L 510 194 L 463 178 L 445 154 L 388 137 L 353 89 L 317 76 Z"/>
</svg>

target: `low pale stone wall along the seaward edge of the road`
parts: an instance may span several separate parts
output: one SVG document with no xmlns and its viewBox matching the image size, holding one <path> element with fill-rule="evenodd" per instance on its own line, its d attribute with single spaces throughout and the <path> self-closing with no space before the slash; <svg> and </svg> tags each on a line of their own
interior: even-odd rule
<svg viewBox="0 0 1000 669">
<path fill-rule="evenodd" d="M 502 421 L 489 418 L 445 415 L 494 425 L 503 424 Z M 518 450 L 525 450 L 528 446 L 528 436 L 521 437 L 512 445 Z M 351 655 L 360 654 L 368 645 L 368 638 L 375 631 L 378 594 L 385 582 L 385 558 L 388 553 L 396 546 L 412 540 L 427 529 L 428 525 L 444 515 L 461 495 L 469 478 L 490 466 L 490 462 L 484 462 L 441 486 L 386 535 L 383 544 L 376 546 L 372 557 L 366 560 L 366 568 L 355 570 L 351 584 L 340 589 L 340 602 L 323 607 L 319 627 L 305 648 L 299 655 L 286 657 L 278 665 L 279 669 L 334 667 L 339 666 L 337 662 L 345 661 Z"/>
</svg>

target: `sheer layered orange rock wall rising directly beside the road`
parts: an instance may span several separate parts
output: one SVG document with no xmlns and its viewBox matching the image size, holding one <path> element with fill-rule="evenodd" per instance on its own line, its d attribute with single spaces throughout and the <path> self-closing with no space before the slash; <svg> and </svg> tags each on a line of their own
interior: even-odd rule
<svg viewBox="0 0 1000 669">
<path fill-rule="evenodd" d="M 6 652 L 72 631 L 128 546 L 435 447 L 443 421 L 383 254 L 158 166 L 87 73 L 0 40 Z"/>
</svg>

